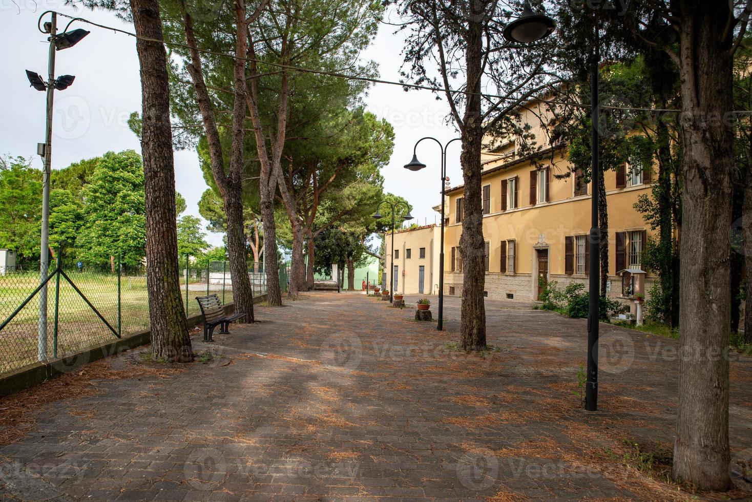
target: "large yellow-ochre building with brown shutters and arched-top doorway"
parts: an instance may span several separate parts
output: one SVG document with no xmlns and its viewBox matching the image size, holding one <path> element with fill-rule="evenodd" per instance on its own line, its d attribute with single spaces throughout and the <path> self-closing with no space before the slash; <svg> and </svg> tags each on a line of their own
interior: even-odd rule
<svg viewBox="0 0 752 502">
<path fill-rule="evenodd" d="M 538 113 L 538 115 L 535 115 Z M 541 107 L 535 113 L 523 110 L 521 120 L 532 126 L 538 144 L 548 144 L 540 124 Z M 538 151 L 535 156 L 517 155 L 517 141 L 502 141 L 484 152 L 482 195 L 486 242 L 484 291 L 488 298 L 532 301 L 545 283 L 556 280 L 560 287 L 584 283 L 589 274 L 590 186 L 577 172 L 559 179 L 572 165 L 566 147 Z M 537 162 L 534 162 L 537 160 Z M 608 200 L 608 295 L 622 296 L 624 269 L 641 269 L 641 254 L 650 229 L 633 204 L 650 192 L 652 166 L 638 162 L 621 165 L 605 173 Z M 462 186 L 447 190 L 446 234 L 444 236 L 444 293 L 462 295 Z M 413 244 L 415 245 L 415 244 Z M 646 291 L 653 277 L 645 278 Z M 438 281 L 437 281 L 438 282 Z"/>
</svg>

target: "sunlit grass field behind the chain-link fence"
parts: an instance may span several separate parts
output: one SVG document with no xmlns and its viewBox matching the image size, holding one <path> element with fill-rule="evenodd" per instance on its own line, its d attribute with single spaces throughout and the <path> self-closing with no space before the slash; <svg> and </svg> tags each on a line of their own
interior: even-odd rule
<svg viewBox="0 0 752 502">
<path fill-rule="evenodd" d="M 102 314 L 114 331 L 123 336 L 141 331 L 149 326 L 149 302 L 146 277 L 125 276 L 120 279 L 118 295 L 117 275 L 68 272 L 69 277 L 84 296 Z M 226 283 L 229 283 L 229 273 Z M 38 272 L 23 272 L 0 275 L 0 322 L 6 320 L 34 292 L 39 284 Z M 198 278 L 185 277 L 180 280 L 183 307 L 187 314 L 199 313 L 195 298 L 207 293 L 206 283 Z M 262 294 L 263 287 L 257 285 L 254 294 Z M 232 287 L 222 283 L 209 285 L 209 292 L 216 294 L 220 301 L 232 301 Z M 114 340 L 113 331 L 99 319 L 99 316 L 86 304 L 64 277 L 60 277 L 58 305 L 58 329 L 56 355 L 62 357 L 83 349 L 86 346 Z M 118 306 L 120 305 L 120 317 Z M 55 355 L 55 309 L 56 277 L 47 283 L 47 358 Z M 120 319 L 120 323 L 118 320 Z M 39 295 L 35 295 L 0 330 L 0 373 L 14 370 L 38 361 Z"/>
</svg>

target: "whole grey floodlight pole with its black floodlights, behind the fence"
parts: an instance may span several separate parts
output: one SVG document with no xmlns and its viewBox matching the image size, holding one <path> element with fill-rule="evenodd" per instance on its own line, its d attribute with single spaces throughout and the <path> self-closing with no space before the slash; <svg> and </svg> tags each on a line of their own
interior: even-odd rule
<svg viewBox="0 0 752 502">
<path fill-rule="evenodd" d="M 40 27 L 42 17 L 45 14 L 51 14 L 51 20 Z M 71 26 L 74 20 L 68 23 Z M 37 153 L 41 156 L 44 164 L 42 176 L 42 222 L 41 222 L 41 254 L 39 256 L 39 276 L 40 282 L 47 279 L 47 271 L 50 267 L 49 240 L 50 240 L 50 173 L 52 163 L 52 110 L 53 95 L 55 89 L 62 91 L 67 89 L 73 83 L 73 75 L 61 75 L 55 78 L 55 53 L 57 50 L 68 49 L 77 44 L 83 37 L 89 35 L 85 29 L 74 29 L 68 32 L 68 26 L 62 33 L 57 33 L 57 13 L 46 11 L 39 16 L 37 28 L 40 32 L 50 35 L 47 39 L 50 41 L 50 53 L 47 59 L 47 82 L 44 82 L 41 75 L 34 71 L 26 70 L 26 77 L 29 79 L 31 86 L 38 91 L 47 92 L 47 127 L 44 143 L 37 144 Z M 47 358 L 47 284 L 44 284 L 39 290 L 39 326 L 38 326 L 38 345 L 37 357 L 39 361 Z"/>
</svg>

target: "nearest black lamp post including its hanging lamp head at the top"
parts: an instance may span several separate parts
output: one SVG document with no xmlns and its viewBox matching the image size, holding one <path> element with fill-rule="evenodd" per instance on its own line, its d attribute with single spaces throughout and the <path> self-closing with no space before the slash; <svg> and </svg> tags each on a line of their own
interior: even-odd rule
<svg viewBox="0 0 752 502">
<path fill-rule="evenodd" d="M 504 36 L 509 41 L 520 43 L 532 42 L 553 32 L 553 20 L 550 17 L 535 14 L 528 2 L 522 17 L 509 23 L 504 29 Z M 534 38 L 538 35 L 538 38 Z M 599 147 L 599 104 L 598 104 L 598 17 L 596 11 L 595 42 L 593 44 L 593 59 L 590 69 L 590 295 L 587 314 L 587 381 L 585 383 L 585 410 L 598 410 L 598 338 L 600 319 L 600 260 L 601 231 L 598 226 L 598 179 L 600 176 L 598 147 Z"/>
</svg>

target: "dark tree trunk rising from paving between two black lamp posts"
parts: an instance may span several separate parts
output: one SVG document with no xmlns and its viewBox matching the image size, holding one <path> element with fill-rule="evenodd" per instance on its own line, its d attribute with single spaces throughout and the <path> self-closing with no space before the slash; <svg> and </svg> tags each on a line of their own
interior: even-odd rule
<svg viewBox="0 0 752 502">
<path fill-rule="evenodd" d="M 486 280 L 483 240 L 483 210 L 481 207 L 481 146 L 483 123 L 481 121 L 481 54 L 483 51 L 483 6 L 470 2 L 468 17 L 467 89 L 474 92 L 465 95 L 465 116 L 462 127 L 462 179 L 465 182 L 465 198 L 462 202 L 462 322 L 459 327 L 459 346 L 464 350 L 486 347 L 486 307 L 483 291 Z"/>
</svg>

